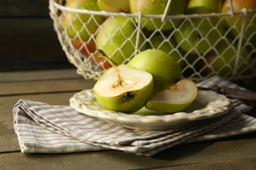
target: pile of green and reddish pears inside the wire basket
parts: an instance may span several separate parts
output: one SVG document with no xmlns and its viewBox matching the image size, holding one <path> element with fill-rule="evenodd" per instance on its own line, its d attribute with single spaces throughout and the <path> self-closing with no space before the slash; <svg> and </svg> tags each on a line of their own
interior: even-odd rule
<svg viewBox="0 0 256 170">
<path fill-rule="evenodd" d="M 234 12 L 243 8 L 256 9 L 256 0 L 231 0 Z M 163 14 L 168 0 L 66 0 L 65 6 L 89 11 L 106 11 L 105 15 L 61 11 L 61 23 L 75 49 L 91 62 L 94 71 L 105 71 L 111 64 L 104 54 L 117 64 L 126 64 L 135 51 L 159 49 L 172 56 L 180 66 L 193 76 L 218 74 L 223 77 L 241 75 L 252 68 L 251 51 L 256 48 L 256 14 L 248 13 L 244 23 L 244 38 L 237 60 L 242 17 L 191 17 L 161 18 L 141 17 L 140 37 L 135 17 L 113 16 L 128 13 Z M 229 0 L 172 0 L 168 15 L 227 13 Z M 71 44 L 72 45 L 72 44 Z M 137 48 L 135 48 L 137 46 Z M 237 65 L 238 64 L 238 65 Z M 151 65 L 153 65 L 151 63 Z M 191 67 L 192 65 L 192 67 Z M 161 67 L 158 66 L 158 67 Z M 192 76 L 192 77 L 193 77 Z M 191 77 L 186 76 L 185 77 Z"/>
</svg>

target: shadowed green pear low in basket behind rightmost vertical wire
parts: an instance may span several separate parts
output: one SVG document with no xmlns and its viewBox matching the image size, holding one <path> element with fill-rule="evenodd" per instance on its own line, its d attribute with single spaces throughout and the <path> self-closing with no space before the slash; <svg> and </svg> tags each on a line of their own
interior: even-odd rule
<svg viewBox="0 0 256 170">
<path fill-rule="evenodd" d="M 236 43 L 233 45 L 229 44 L 231 41 L 232 40 L 221 40 L 218 46 L 216 46 L 216 51 L 212 51 L 204 57 L 207 64 L 211 66 L 205 68 L 203 74 L 209 75 L 216 71 L 221 77 L 228 77 L 233 73 L 236 64 L 238 45 Z M 247 51 L 247 48 L 244 48 L 241 52 L 241 56 L 239 56 L 238 74 L 245 71 L 248 55 L 249 51 Z M 202 65 L 204 67 L 206 63 L 203 62 Z"/>
</svg>

